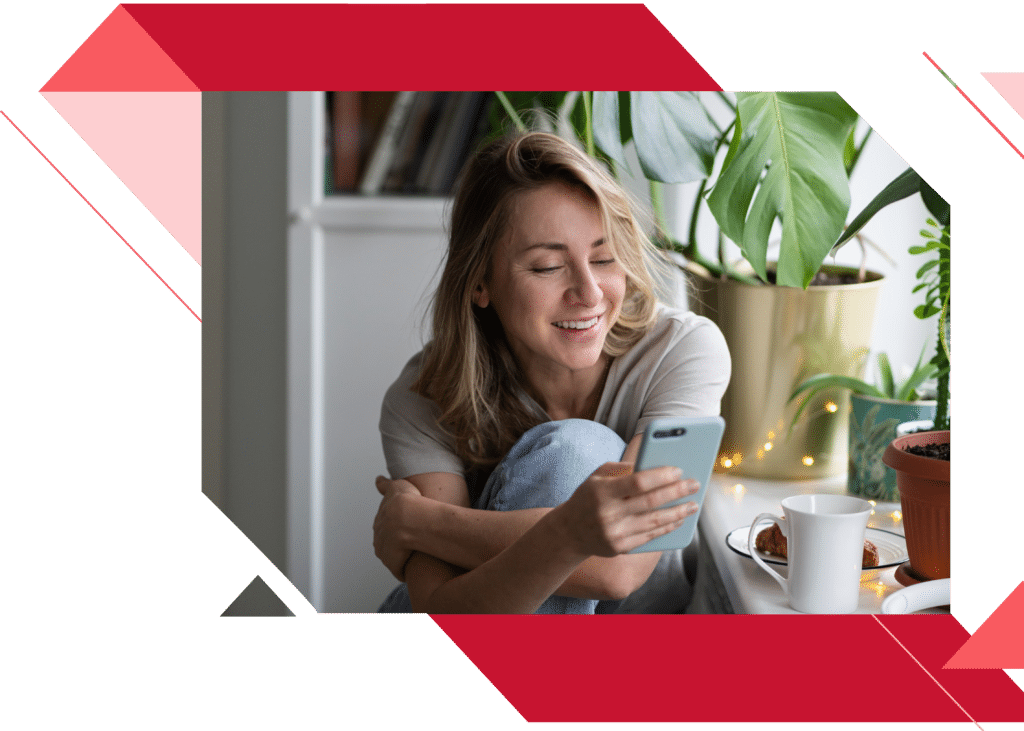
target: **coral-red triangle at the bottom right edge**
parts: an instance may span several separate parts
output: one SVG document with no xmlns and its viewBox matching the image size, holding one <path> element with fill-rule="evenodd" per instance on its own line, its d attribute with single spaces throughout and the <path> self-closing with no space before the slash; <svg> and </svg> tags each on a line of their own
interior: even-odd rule
<svg viewBox="0 0 1024 731">
<path fill-rule="evenodd" d="M 1024 582 L 1002 600 L 943 670 L 1024 670 Z"/>
</svg>

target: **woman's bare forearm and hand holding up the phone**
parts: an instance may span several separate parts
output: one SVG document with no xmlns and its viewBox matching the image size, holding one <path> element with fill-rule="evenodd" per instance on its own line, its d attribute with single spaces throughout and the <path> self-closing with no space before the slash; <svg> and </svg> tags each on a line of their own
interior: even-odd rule
<svg viewBox="0 0 1024 731">
<path fill-rule="evenodd" d="M 425 487 L 431 491 L 431 485 Z M 625 463 L 604 465 L 568 501 L 547 511 L 512 545 L 470 571 L 459 574 L 449 563 L 414 554 L 406 570 L 413 608 L 532 612 L 558 593 L 588 557 L 611 559 L 676 529 L 692 514 L 693 506 L 658 508 L 688 490 L 675 468 L 634 474 Z"/>
</svg>

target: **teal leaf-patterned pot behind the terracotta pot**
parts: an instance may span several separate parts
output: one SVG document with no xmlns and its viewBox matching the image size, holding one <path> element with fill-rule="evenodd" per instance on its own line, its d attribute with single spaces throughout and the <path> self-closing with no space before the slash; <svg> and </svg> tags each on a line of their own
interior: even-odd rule
<svg viewBox="0 0 1024 731">
<path fill-rule="evenodd" d="M 882 455 L 896 438 L 896 425 L 935 418 L 935 401 L 895 401 L 850 396 L 850 472 L 847 489 L 866 500 L 898 502 L 896 472 Z"/>
</svg>

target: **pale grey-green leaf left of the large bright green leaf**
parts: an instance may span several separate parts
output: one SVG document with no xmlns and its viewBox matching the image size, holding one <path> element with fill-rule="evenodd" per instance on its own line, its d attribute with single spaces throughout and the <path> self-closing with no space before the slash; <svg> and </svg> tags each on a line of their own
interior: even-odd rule
<svg viewBox="0 0 1024 731">
<path fill-rule="evenodd" d="M 630 122 L 644 177 L 684 183 L 711 175 L 718 132 L 697 92 L 631 91 Z"/>
</svg>

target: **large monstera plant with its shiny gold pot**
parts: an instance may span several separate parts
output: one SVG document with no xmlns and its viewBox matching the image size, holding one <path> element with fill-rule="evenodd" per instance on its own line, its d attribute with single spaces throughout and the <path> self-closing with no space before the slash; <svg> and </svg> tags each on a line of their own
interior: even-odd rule
<svg viewBox="0 0 1024 731">
<path fill-rule="evenodd" d="M 845 394 L 839 413 L 813 430 L 784 425 L 795 408 L 788 396 L 808 376 L 862 375 L 882 277 L 823 262 L 843 230 L 849 174 L 867 135 L 855 139 L 858 117 L 836 93 L 718 96 L 724 116 L 697 92 L 499 92 L 517 124 L 524 126 L 517 107 L 541 106 L 613 170 L 627 164 L 624 145 L 634 142 L 650 182 L 657 243 L 684 259 L 690 307 L 716 321 L 732 353 L 719 469 L 774 478 L 842 474 Z M 695 181 L 687 238 L 678 242 L 666 233 L 662 184 Z M 718 223 L 717 259 L 696 243 L 703 205 Z M 772 262 L 776 221 L 781 241 Z M 741 266 L 727 261 L 726 238 L 740 247 Z"/>
</svg>

